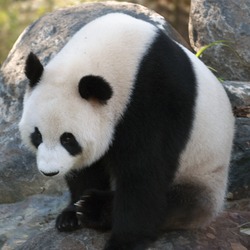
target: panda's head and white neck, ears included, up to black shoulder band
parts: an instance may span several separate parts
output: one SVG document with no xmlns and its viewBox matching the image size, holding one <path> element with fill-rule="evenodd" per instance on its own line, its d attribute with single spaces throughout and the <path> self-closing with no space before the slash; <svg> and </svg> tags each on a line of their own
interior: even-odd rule
<svg viewBox="0 0 250 250">
<path fill-rule="evenodd" d="M 156 35 L 153 25 L 113 13 L 79 30 L 45 68 L 29 55 L 19 128 L 42 173 L 91 165 L 108 150 Z"/>
</svg>

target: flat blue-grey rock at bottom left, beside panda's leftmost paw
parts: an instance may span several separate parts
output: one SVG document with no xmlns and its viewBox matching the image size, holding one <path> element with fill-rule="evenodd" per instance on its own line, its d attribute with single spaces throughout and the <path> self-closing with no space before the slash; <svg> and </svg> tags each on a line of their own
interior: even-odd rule
<svg viewBox="0 0 250 250">
<path fill-rule="evenodd" d="M 68 196 L 40 194 L 21 202 L 0 204 L 0 249 L 17 249 L 28 238 L 54 228 L 55 218 L 66 206 Z"/>
</svg>

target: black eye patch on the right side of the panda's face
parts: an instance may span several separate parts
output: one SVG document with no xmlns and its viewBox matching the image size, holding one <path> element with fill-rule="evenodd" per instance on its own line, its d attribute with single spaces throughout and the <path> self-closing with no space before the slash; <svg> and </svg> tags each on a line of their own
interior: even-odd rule
<svg viewBox="0 0 250 250">
<path fill-rule="evenodd" d="M 75 156 L 82 152 L 82 148 L 77 142 L 75 136 L 71 133 L 63 133 L 60 137 L 62 146 L 72 155 Z"/>
</svg>

